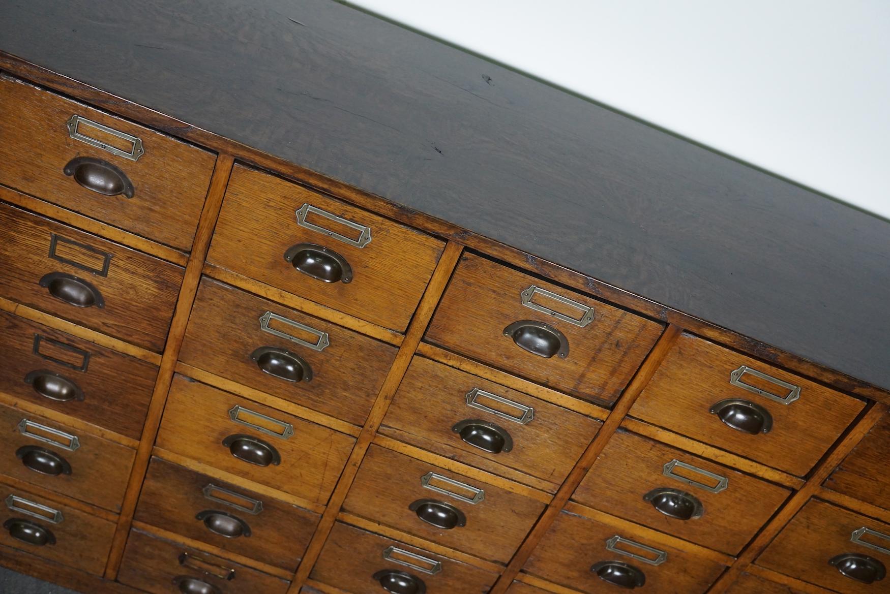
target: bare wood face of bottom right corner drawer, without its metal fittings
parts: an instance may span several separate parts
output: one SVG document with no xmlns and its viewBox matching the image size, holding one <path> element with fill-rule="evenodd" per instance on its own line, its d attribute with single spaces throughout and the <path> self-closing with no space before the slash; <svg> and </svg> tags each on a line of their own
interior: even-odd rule
<svg viewBox="0 0 890 594">
<path fill-rule="evenodd" d="M 836 555 L 858 553 L 890 566 L 890 553 L 850 542 L 851 534 L 862 526 L 887 536 L 880 538 L 866 534 L 862 536 L 863 541 L 890 549 L 890 524 L 813 499 L 761 553 L 756 564 L 845 594 L 882 591 L 886 589 L 886 582 L 856 582 L 828 563 Z"/>
</svg>

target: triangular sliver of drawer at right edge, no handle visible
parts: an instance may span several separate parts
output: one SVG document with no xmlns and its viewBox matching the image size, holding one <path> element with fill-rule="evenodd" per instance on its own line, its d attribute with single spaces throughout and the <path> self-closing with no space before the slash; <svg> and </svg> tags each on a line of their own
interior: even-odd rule
<svg viewBox="0 0 890 594">
<path fill-rule="evenodd" d="M 890 456 L 890 413 L 878 421 L 831 473 L 824 485 L 832 491 L 890 510 L 890 476 L 886 464 Z"/>
</svg>

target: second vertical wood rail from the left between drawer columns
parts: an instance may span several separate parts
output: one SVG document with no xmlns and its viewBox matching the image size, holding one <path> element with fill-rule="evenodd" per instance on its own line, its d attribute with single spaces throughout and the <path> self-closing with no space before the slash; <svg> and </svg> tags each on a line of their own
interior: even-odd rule
<svg viewBox="0 0 890 594">
<path fill-rule="evenodd" d="M 451 273 L 457 266 L 457 261 L 460 260 L 463 250 L 463 245 L 454 242 L 449 241 L 445 245 L 445 250 L 442 252 L 439 263 L 436 264 L 436 269 L 433 270 L 433 277 L 430 278 L 429 284 L 426 285 L 424 296 L 417 306 L 414 317 L 411 318 L 411 323 L 405 333 L 405 340 L 401 342 L 401 347 L 399 352 L 396 353 L 392 367 L 390 367 L 383 386 L 380 387 L 380 391 L 377 393 L 374 405 L 368 414 L 368 420 L 365 421 L 359 438 L 356 440 L 355 446 L 352 447 L 352 454 L 350 454 L 343 473 L 337 480 L 334 493 L 331 494 L 328 500 L 328 507 L 321 515 L 319 526 L 315 528 L 315 533 L 312 534 L 312 540 L 309 542 L 305 554 L 303 554 L 300 566 L 296 568 L 294 580 L 291 582 L 287 594 L 298 594 L 312 572 L 312 567 L 315 566 L 315 562 L 321 554 L 321 548 L 328 540 L 328 534 L 334 527 L 337 514 L 340 513 L 346 494 L 352 486 L 352 480 L 355 479 L 355 475 L 359 471 L 359 465 L 368 452 L 368 447 L 371 446 L 371 441 L 373 441 L 377 429 L 380 428 L 380 423 L 384 420 L 386 410 L 392 403 L 392 397 L 395 396 L 395 390 L 399 388 L 402 377 L 408 371 L 408 365 L 411 363 L 412 357 L 414 357 L 417 345 L 420 344 L 420 339 L 423 338 L 426 332 L 426 326 L 429 325 L 430 320 L 433 318 L 433 312 L 439 304 L 442 293 L 445 292 L 445 287 L 448 285 Z"/>
</svg>

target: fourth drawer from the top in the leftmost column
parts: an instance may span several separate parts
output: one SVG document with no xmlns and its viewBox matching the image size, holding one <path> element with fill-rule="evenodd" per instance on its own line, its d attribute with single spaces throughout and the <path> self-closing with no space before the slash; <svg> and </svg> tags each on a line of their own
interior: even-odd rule
<svg viewBox="0 0 890 594">
<path fill-rule="evenodd" d="M 135 450 L 0 405 L 0 472 L 106 510 L 120 511 Z"/>
</svg>

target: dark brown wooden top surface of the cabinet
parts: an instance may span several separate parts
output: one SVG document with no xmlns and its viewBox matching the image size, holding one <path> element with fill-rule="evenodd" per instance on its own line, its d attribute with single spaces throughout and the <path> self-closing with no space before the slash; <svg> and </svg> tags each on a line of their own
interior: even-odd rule
<svg viewBox="0 0 890 594">
<path fill-rule="evenodd" d="M 0 50 L 890 388 L 886 221 L 343 4 L 0 0 Z"/>
</svg>

